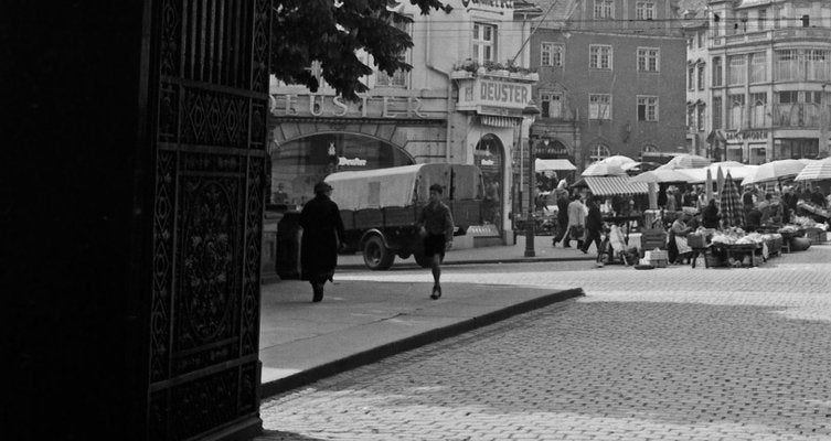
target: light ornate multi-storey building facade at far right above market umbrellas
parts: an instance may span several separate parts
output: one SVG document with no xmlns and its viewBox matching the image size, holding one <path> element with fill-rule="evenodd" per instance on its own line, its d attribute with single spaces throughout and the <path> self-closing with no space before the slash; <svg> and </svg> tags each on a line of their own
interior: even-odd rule
<svg viewBox="0 0 831 441">
<path fill-rule="evenodd" d="M 831 2 L 711 0 L 702 11 L 688 29 L 688 45 L 705 44 L 688 63 L 707 66 L 703 86 L 688 78 L 690 139 L 749 164 L 827 157 Z"/>
</svg>

